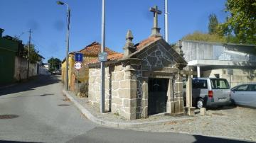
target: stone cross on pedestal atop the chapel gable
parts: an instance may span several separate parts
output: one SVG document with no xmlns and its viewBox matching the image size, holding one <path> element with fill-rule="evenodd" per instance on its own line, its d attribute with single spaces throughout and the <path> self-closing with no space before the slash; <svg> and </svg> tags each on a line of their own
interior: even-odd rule
<svg viewBox="0 0 256 143">
<path fill-rule="evenodd" d="M 149 8 L 149 11 L 154 13 L 154 25 L 151 31 L 151 36 L 161 37 L 160 28 L 158 27 L 158 14 L 161 14 L 161 11 L 157 6 Z"/>
</svg>

